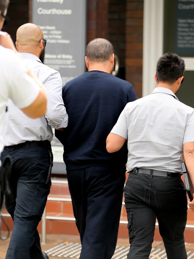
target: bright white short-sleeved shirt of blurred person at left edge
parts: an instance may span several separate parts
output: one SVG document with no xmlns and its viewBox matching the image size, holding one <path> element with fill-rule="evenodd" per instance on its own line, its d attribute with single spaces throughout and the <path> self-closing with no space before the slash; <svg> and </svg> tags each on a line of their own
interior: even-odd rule
<svg viewBox="0 0 194 259">
<path fill-rule="evenodd" d="M 0 45 L 0 152 L 3 150 L 3 132 L 6 121 L 2 120 L 8 99 L 12 99 L 16 106 L 25 108 L 30 106 L 39 95 L 40 88 L 27 74 L 27 68 L 21 58 L 12 50 Z"/>
</svg>

